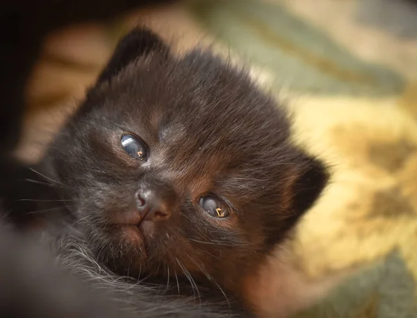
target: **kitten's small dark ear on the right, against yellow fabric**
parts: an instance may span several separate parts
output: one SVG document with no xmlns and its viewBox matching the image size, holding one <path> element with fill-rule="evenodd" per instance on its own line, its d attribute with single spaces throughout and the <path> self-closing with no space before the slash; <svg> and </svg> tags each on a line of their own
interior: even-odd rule
<svg viewBox="0 0 417 318">
<path fill-rule="evenodd" d="M 327 167 L 318 159 L 303 155 L 299 165 L 288 169 L 284 207 L 291 215 L 301 216 L 316 203 L 329 180 Z"/>
</svg>

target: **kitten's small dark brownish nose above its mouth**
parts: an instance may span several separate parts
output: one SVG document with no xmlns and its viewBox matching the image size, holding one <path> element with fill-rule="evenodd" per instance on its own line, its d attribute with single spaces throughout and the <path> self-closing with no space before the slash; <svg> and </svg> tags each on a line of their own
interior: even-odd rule
<svg viewBox="0 0 417 318">
<path fill-rule="evenodd" d="M 156 221 L 169 219 L 171 216 L 170 201 L 154 189 L 142 189 L 136 193 L 137 208 L 140 219 Z"/>
</svg>

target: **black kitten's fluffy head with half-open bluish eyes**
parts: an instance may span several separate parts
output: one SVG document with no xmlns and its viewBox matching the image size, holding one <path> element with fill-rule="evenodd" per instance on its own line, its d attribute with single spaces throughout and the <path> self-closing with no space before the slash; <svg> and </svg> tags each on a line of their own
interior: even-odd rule
<svg viewBox="0 0 417 318">
<path fill-rule="evenodd" d="M 285 112 L 210 53 L 174 58 L 127 35 L 50 155 L 100 261 L 189 271 L 225 287 L 316 201 L 325 169 L 291 144 Z"/>
</svg>

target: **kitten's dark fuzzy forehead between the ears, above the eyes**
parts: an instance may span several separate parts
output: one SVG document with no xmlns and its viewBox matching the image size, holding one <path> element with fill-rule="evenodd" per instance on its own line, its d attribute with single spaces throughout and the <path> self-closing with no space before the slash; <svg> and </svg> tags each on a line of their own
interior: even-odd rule
<svg viewBox="0 0 417 318">
<path fill-rule="evenodd" d="M 107 108 L 116 108 L 117 116 L 133 126 L 158 131 L 161 140 L 182 133 L 199 133 L 193 137 L 206 140 L 244 137 L 255 128 L 286 124 L 245 72 L 208 53 L 145 62 L 129 65 L 117 78 L 106 92 Z"/>
</svg>

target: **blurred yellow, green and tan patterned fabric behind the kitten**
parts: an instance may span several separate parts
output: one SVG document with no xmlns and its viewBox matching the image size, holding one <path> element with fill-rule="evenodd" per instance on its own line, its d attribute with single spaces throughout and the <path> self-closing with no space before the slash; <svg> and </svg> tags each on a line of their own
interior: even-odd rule
<svg viewBox="0 0 417 318">
<path fill-rule="evenodd" d="M 299 317 L 417 315 L 417 1 L 190 0 L 51 34 L 27 87 L 19 156 L 35 161 L 132 26 L 181 54 L 250 65 L 332 182 L 291 251 L 306 279 L 354 267 Z"/>
</svg>

